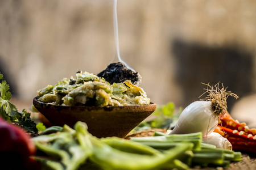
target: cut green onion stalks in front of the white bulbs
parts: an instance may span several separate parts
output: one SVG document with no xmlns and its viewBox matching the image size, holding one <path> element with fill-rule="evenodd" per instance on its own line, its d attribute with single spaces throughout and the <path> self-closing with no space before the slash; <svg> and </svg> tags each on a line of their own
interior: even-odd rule
<svg viewBox="0 0 256 170">
<path fill-rule="evenodd" d="M 202 143 L 202 133 L 190 134 L 164 134 L 155 131 L 152 137 L 131 138 L 131 141 L 139 142 L 143 145 L 150 146 L 156 150 L 165 152 L 176 145 L 191 143 L 192 148 L 185 151 L 182 156 L 178 157 L 181 162 L 189 167 L 199 165 L 200 167 L 229 167 L 230 162 L 241 160 L 241 152 L 234 152 L 222 148 L 216 148 L 214 145 Z"/>
</svg>

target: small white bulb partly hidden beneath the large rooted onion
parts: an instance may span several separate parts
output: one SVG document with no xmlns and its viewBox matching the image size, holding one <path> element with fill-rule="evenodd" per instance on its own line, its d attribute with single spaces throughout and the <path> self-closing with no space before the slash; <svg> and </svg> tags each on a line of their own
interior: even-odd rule
<svg viewBox="0 0 256 170">
<path fill-rule="evenodd" d="M 215 145 L 217 148 L 232 150 L 232 144 L 228 141 L 228 139 L 222 137 L 221 134 L 216 132 L 207 135 L 207 137 L 203 137 L 203 143 Z"/>
</svg>

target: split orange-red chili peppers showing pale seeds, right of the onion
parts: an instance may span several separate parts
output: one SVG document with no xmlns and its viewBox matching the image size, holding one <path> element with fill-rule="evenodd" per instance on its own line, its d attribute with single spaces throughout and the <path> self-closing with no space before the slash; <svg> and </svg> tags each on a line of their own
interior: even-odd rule
<svg viewBox="0 0 256 170">
<path fill-rule="evenodd" d="M 227 138 L 232 144 L 233 150 L 256 153 L 256 129 L 249 129 L 245 123 L 240 124 L 240 122 L 235 121 L 228 112 L 220 118 L 214 132 Z"/>
</svg>

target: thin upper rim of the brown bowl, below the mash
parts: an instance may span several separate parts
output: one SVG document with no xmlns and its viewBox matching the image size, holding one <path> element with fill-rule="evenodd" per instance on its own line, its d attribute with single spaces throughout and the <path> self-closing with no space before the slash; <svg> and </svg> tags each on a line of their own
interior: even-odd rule
<svg viewBox="0 0 256 170">
<path fill-rule="evenodd" d="M 147 107 L 147 106 L 153 106 L 153 105 L 156 105 L 155 103 L 152 103 L 150 102 L 150 104 L 145 104 L 145 105 L 121 105 L 121 106 L 111 106 L 111 105 L 108 105 L 108 106 L 105 106 L 105 107 L 97 107 L 97 106 L 68 106 L 68 105 L 56 105 L 56 104 L 51 104 L 51 103 L 44 103 L 42 101 L 39 101 L 38 100 L 39 96 L 36 96 L 34 97 L 33 99 L 33 105 L 34 105 L 34 102 L 35 103 L 38 103 L 40 105 L 46 105 L 46 106 L 52 106 L 52 107 L 61 107 L 61 108 L 135 108 L 135 107 Z"/>
</svg>

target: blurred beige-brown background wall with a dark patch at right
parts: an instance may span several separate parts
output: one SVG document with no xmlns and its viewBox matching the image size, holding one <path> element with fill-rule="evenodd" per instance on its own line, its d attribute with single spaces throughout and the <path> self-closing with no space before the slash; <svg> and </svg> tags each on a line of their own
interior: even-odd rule
<svg viewBox="0 0 256 170">
<path fill-rule="evenodd" d="M 121 57 L 156 104 L 184 108 L 203 94 L 201 82 L 221 82 L 240 96 L 228 99 L 229 112 L 255 121 L 255 8 L 118 0 Z M 97 74 L 115 56 L 112 0 L 0 0 L 0 71 L 17 102 L 31 105 L 40 88 L 79 70 Z"/>
</svg>

